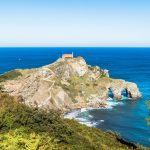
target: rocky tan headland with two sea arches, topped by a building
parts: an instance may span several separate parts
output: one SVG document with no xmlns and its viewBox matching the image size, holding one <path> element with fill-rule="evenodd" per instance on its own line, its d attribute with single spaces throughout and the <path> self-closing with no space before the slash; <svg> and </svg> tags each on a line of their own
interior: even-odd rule
<svg viewBox="0 0 150 150">
<path fill-rule="evenodd" d="M 27 105 L 44 109 L 69 111 L 82 107 L 101 107 L 111 93 L 121 100 L 125 91 L 128 98 L 141 97 L 135 83 L 109 77 L 108 70 L 87 65 L 82 57 L 60 58 L 53 64 L 30 70 L 15 70 L 8 80 L 0 76 L 3 91 Z M 13 72 L 14 74 L 14 72 Z"/>
</svg>

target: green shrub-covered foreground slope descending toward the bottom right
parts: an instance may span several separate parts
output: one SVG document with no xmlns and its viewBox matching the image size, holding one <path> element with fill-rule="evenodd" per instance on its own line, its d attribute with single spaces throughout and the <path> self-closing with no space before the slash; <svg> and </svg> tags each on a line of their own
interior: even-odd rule
<svg viewBox="0 0 150 150">
<path fill-rule="evenodd" d="M 2 150 L 125 150 L 144 149 L 111 132 L 63 119 L 58 112 L 20 104 L 0 93 Z"/>
</svg>

